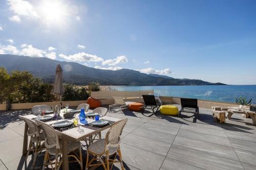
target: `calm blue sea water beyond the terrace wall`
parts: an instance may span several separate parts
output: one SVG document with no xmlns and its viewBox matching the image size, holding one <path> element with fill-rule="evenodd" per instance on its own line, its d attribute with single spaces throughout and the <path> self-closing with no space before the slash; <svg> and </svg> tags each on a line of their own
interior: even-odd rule
<svg viewBox="0 0 256 170">
<path fill-rule="evenodd" d="M 155 94 L 234 103 L 239 95 L 256 104 L 256 85 L 227 86 L 114 86 L 118 91 L 154 90 Z"/>
</svg>

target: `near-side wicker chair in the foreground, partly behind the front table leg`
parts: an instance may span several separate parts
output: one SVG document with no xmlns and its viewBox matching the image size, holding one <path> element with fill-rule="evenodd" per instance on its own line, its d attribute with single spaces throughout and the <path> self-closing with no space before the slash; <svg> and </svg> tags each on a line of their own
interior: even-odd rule
<svg viewBox="0 0 256 170">
<path fill-rule="evenodd" d="M 50 125 L 40 122 L 39 120 L 35 120 L 35 122 L 37 125 L 40 125 L 46 137 L 46 140 L 45 140 L 46 154 L 45 154 L 44 165 L 42 169 L 44 170 L 46 166 L 49 166 L 49 164 L 51 165 L 52 169 L 59 169 L 62 164 L 61 158 L 58 161 L 58 157 L 61 157 L 61 141 L 59 139 L 59 136 Z M 79 150 L 79 156 L 75 152 L 76 150 Z M 73 152 L 74 154 L 69 155 L 68 157 L 73 157 L 75 160 L 69 161 L 69 162 L 70 163 L 78 162 L 82 169 L 82 149 L 80 146 L 80 142 L 68 141 L 68 153 L 70 154 L 71 152 Z M 55 159 L 54 159 L 55 162 L 53 160 L 50 160 L 50 155 L 55 156 Z M 55 165 L 54 168 L 53 168 L 53 165 Z"/>
</svg>

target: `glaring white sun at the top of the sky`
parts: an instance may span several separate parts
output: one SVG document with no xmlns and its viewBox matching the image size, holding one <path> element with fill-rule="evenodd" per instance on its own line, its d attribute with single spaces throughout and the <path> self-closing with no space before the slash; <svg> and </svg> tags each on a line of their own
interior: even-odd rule
<svg viewBox="0 0 256 170">
<path fill-rule="evenodd" d="M 42 1 L 40 5 L 41 17 L 49 24 L 49 23 L 61 23 L 65 21 L 68 10 L 65 4 L 62 1 L 54 0 L 46 0 Z"/>
</svg>

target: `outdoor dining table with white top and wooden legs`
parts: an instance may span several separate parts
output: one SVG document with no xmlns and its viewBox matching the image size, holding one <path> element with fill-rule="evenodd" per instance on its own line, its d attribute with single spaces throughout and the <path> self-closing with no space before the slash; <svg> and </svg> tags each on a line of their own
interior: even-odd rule
<svg viewBox="0 0 256 170">
<path fill-rule="evenodd" d="M 71 109 L 68 109 L 68 111 L 71 110 Z M 64 110 L 61 110 L 60 111 L 60 115 L 59 115 L 59 118 L 58 120 L 52 120 L 50 122 L 46 122 L 46 124 L 54 124 L 54 123 L 57 123 L 57 122 L 61 122 L 63 120 L 69 120 L 71 122 L 73 122 L 73 118 L 64 118 L 63 117 L 63 113 L 64 113 Z M 52 115 L 53 114 L 49 114 L 49 115 Z M 25 117 L 25 118 L 28 118 L 28 119 L 33 119 L 35 117 L 38 117 L 36 115 L 33 115 L 33 114 L 29 114 L 29 115 L 24 115 L 24 116 L 19 116 L 19 117 Z M 119 122 L 121 119 L 119 118 L 115 118 L 115 117 L 110 117 L 110 116 L 103 116 L 103 117 L 100 117 L 100 119 L 105 119 L 105 120 L 110 120 L 112 122 L 114 122 L 113 124 L 109 124 L 109 125 L 106 125 L 104 127 L 101 127 L 97 130 L 93 130 L 93 129 L 89 129 L 89 128 L 85 128 L 85 127 L 82 127 L 80 126 L 80 129 L 83 129 L 84 133 L 81 134 L 77 131 L 77 127 L 75 128 L 72 128 L 72 129 L 68 129 L 66 131 L 58 131 L 58 130 L 55 130 L 57 132 L 57 134 L 61 137 L 61 143 L 62 143 L 62 169 L 69 169 L 69 162 L 68 162 L 68 145 L 67 145 L 67 141 L 68 140 L 74 140 L 74 141 L 80 141 L 84 138 L 87 138 L 93 134 L 96 134 L 98 132 L 101 132 L 105 129 L 108 129 L 110 127 L 112 127 L 114 124 L 116 124 L 117 122 Z M 91 119 L 91 118 L 87 118 L 88 120 L 88 124 L 94 122 L 95 120 L 94 119 Z M 83 125 L 79 122 L 80 125 Z M 24 140 L 23 140 L 23 155 L 27 154 L 27 151 L 28 151 L 28 136 L 27 136 L 27 131 L 28 131 L 28 125 L 25 124 L 25 131 L 24 131 Z"/>
</svg>

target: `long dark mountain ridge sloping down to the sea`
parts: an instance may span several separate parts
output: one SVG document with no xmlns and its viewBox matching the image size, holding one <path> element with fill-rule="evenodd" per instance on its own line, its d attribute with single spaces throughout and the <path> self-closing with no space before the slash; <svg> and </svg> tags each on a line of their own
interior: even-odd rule
<svg viewBox="0 0 256 170">
<path fill-rule="evenodd" d="M 156 74 L 143 74 L 132 69 L 103 70 L 87 67 L 75 62 L 51 60 L 45 57 L 0 55 L 0 67 L 12 70 L 27 70 L 42 80 L 53 83 L 56 65 L 63 69 L 63 80 L 67 83 L 87 85 L 92 81 L 101 85 L 216 85 L 202 80 L 174 79 Z M 223 85 L 218 83 L 218 85 Z"/>
</svg>

